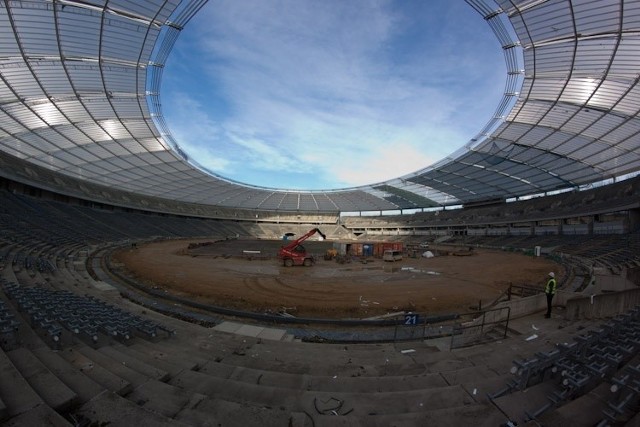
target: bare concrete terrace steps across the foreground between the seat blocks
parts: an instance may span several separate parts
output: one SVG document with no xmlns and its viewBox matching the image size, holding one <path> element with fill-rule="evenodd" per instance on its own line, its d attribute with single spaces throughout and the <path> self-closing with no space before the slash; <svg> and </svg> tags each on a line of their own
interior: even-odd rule
<svg viewBox="0 0 640 427">
<path fill-rule="evenodd" d="M 3 278 L 94 297 L 175 334 L 126 340 L 101 334 L 93 342 L 63 330 L 52 341 L 0 292 L 20 322 L 17 342 L 0 352 L 3 425 L 592 426 L 606 419 L 610 403 L 620 406 L 607 381 L 539 414 L 561 390 L 556 379 L 496 395 L 514 381 L 514 361 L 570 343 L 599 322 L 536 313 L 512 320 L 507 338 L 451 351 L 436 340 L 304 343 L 283 340 L 280 329 L 238 323 L 222 330 L 167 317 L 85 281 L 86 271 L 73 264 L 57 265 L 42 280 L 6 271 Z M 241 334 L 243 326 L 260 333 Z M 637 356 L 615 375 L 636 366 Z"/>
</svg>

